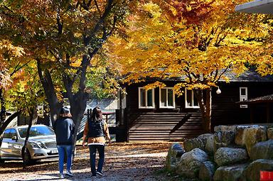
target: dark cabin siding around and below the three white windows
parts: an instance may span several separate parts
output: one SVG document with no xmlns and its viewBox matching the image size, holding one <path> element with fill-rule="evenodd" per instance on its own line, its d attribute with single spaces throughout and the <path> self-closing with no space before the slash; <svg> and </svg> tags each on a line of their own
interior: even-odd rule
<svg viewBox="0 0 273 181">
<path fill-rule="evenodd" d="M 174 141 L 192 138 L 203 132 L 201 115 L 198 109 L 185 109 L 183 97 L 176 97 L 175 109 L 159 108 L 159 88 L 155 89 L 155 109 L 139 109 L 138 87 L 146 84 L 134 84 L 127 87 L 127 126 L 128 141 Z M 168 84 L 173 87 L 174 82 Z M 177 131 L 171 130 L 191 114 Z"/>
</svg>

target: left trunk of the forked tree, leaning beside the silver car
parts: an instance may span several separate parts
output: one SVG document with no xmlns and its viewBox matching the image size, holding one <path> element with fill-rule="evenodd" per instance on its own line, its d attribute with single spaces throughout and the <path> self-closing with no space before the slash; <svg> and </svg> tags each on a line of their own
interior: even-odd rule
<svg viewBox="0 0 273 181">
<path fill-rule="evenodd" d="M 37 60 L 38 74 L 43 84 L 43 90 L 50 109 L 50 127 L 55 123 L 63 102 L 58 102 L 50 72 L 42 69 L 40 60 Z"/>
</svg>

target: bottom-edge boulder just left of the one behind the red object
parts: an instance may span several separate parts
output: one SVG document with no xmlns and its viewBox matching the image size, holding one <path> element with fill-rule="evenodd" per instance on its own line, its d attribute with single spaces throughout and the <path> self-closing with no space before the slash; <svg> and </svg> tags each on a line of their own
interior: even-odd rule
<svg viewBox="0 0 273 181">
<path fill-rule="evenodd" d="M 247 163 L 240 165 L 223 166 L 218 168 L 213 175 L 214 181 L 237 181 L 247 167 Z"/>
</svg>

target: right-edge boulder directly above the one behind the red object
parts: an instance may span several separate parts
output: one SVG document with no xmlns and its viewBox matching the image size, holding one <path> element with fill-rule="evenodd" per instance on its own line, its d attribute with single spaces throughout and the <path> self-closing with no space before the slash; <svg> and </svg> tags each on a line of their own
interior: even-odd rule
<svg viewBox="0 0 273 181">
<path fill-rule="evenodd" d="M 250 159 L 273 159 L 273 140 L 256 143 L 251 148 Z"/>
</svg>

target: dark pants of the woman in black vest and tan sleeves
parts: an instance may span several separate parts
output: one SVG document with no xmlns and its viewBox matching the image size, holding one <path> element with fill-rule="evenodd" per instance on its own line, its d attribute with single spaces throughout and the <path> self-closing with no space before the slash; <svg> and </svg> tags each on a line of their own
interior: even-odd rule
<svg viewBox="0 0 273 181">
<path fill-rule="evenodd" d="M 96 150 L 99 152 L 99 162 L 96 170 Z M 92 175 L 97 172 L 102 172 L 103 163 L 105 162 L 105 146 L 104 145 L 89 145 L 90 151 L 90 167 Z"/>
</svg>

